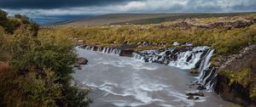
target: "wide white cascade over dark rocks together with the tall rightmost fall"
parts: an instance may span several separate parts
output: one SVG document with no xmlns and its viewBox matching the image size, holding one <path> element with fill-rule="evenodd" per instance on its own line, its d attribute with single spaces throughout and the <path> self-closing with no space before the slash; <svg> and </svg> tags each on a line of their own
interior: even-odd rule
<svg viewBox="0 0 256 107">
<path fill-rule="evenodd" d="M 210 60 L 214 52 L 213 49 L 210 49 L 209 47 L 197 47 L 187 51 L 173 53 L 177 55 L 177 59 L 166 59 L 166 51 L 173 52 L 174 48 L 166 49 L 163 52 L 158 52 L 157 50 L 147 50 L 141 53 L 133 53 L 133 58 L 142 61 L 148 59 L 148 62 L 151 63 L 160 62 L 183 70 L 195 68 L 196 63 L 201 61 L 200 68 L 198 69 L 200 71 L 200 75 L 196 77 L 198 79 L 196 82 L 199 82 L 203 86 L 207 87 L 208 91 L 212 91 L 215 84 L 214 81 L 217 81 L 214 80 L 214 78 L 218 75 L 218 70 L 207 70 L 211 65 Z M 202 56 L 202 53 L 206 54 Z"/>
</svg>

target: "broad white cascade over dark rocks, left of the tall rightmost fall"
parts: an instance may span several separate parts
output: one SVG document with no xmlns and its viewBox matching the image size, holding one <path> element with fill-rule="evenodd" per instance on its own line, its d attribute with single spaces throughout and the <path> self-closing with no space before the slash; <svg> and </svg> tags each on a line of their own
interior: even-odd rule
<svg viewBox="0 0 256 107">
<path fill-rule="evenodd" d="M 145 50 L 133 53 L 133 59 L 144 62 L 159 63 L 178 67 L 180 69 L 195 68 L 196 63 L 201 60 L 201 54 L 209 50 L 209 47 L 196 48 L 166 48 L 156 50 Z"/>
</svg>

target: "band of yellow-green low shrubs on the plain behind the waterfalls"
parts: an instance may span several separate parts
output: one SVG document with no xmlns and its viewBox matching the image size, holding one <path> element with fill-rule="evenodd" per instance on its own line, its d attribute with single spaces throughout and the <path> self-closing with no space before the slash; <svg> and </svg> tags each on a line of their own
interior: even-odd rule
<svg viewBox="0 0 256 107">
<path fill-rule="evenodd" d="M 241 18 L 243 17 L 236 16 L 224 19 L 237 20 Z M 253 14 L 244 16 L 244 19 L 253 18 L 256 19 Z M 207 21 L 214 22 L 218 18 L 197 20 L 207 23 Z M 163 25 L 166 25 L 166 23 Z M 229 55 L 237 53 L 241 48 L 256 42 L 256 25 L 250 25 L 244 28 L 214 28 L 210 30 L 195 27 L 184 29 L 178 27 L 161 28 L 158 25 L 122 25 L 115 27 L 55 27 L 40 31 L 40 35 L 48 34 L 77 37 L 83 39 L 86 44 L 105 46 L 122 45 L 124 42 L 128 42 L 129 44 L 150 42 L 153 45 L 164 43 L 166 48 L 172 47 L 172 42 L 192 42 L 195 46 L 210 46 L 216 49 L 216 54 L 218 55 Z"/>
</svg>

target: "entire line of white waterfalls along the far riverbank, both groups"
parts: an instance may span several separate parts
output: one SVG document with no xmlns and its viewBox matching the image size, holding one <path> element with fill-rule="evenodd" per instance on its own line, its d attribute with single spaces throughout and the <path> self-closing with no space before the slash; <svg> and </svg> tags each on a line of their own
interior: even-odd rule
<svg viewBox="0 0 256 107">
<path fill-rule="evenodd" d="M 81 48 L 100 53 L 121 54 L 121 50 L 117 48 L 102 48 L 96 46 L 82 46 Z M 218 75 L 217 68 L 213 67 L 209 69 L 213 52 L 214 50 L 207 46 L 195 48 L 166 48 L 132 53 L 132 58 L 142 60 L 143 62 L 170 65 L 184 70 L 198 68 L 200 76 L 197 77 L 197 82 L 211 91 L 212 87 L 217 82 L 216 76 Z"/>
</svg>

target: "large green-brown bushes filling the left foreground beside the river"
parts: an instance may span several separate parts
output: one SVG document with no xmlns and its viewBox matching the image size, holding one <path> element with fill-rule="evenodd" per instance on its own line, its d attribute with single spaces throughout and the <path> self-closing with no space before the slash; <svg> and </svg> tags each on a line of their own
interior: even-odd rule
<svg viewBox="0 0 256 107">
<path fill-rule="evenodd" d="M 67 37 L 38 36 L 20 14 L 0 10 L 0 19 L 0 106 L 89 106 L 89 90 L 72 83 L 77 55 Z"/>
</svg>

